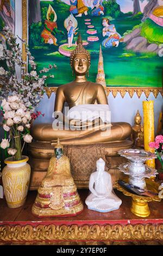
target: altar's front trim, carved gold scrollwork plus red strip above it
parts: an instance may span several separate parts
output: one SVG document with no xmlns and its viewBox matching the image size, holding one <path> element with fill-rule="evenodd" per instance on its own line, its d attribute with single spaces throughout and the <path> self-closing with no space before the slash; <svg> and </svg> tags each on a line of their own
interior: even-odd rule
<svg viewBox="0 0 163 256">
<path fill-rule="evenodd" d="M 3 221 L 0 243 L 163 241 L 163 220 Z"/>
</svg>

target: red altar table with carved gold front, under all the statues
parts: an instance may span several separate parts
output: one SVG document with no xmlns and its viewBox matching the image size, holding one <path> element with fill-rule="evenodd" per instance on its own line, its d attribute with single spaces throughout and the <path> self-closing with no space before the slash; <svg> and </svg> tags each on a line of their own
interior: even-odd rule
<svg viewBox="0 0 163 256">
<path fill-rule="evenodd" d="M 83 202 L 89 191 L 80 190 Z M 84 241 L 163 241 L 163 201 L 149 203 L 151 215 L 137 217 L 130 212 L 131 198 L 116 191 L 120 209 L 108 213 L 88 210 L 75 217 L 37 218 L 32 215 L 36 191 L 29 191 L 26 204 L 10 209 L 0 199 L 0 244 Z"/>
</svg>

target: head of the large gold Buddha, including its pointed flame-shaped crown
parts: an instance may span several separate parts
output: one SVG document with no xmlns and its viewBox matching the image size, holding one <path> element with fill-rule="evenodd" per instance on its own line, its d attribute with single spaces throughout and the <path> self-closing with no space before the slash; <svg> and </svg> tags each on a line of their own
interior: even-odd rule
<svg viewBox="0 0 163 256">
<path fill-rule="evenodd" d="M 77 47 L 72 51 L 70 56 L 70 65 L 77 76 L 85 76 L 90 68 L 90 53 L 82 45 L 82 38 L 79 34 Z"/>
</svg>

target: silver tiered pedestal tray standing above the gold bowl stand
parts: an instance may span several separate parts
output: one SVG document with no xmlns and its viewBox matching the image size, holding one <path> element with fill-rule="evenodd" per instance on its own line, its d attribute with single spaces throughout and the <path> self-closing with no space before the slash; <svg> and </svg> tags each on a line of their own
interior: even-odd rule
<svg viewBox="0 0 163 256">
<path fill-rule="evenodd" d="M 156 159 L 156 155 L 140 149 L 122 149 L 118 154 L 126 157 L 130 162 L 121 164 L 118 169 L 129 175 L 129 183 L 141 188 L 146 187 L 145 178 L 154 177 L 156 169 L 147 166 L 145 161 Z"/>
</svg>

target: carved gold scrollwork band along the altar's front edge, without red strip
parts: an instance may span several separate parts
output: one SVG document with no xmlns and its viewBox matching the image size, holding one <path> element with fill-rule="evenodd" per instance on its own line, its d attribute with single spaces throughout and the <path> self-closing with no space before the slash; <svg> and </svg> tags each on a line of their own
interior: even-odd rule
<svg viewBox="0 0 163 256">
<path fill-rule="evenodd" d="M 150 241 L 163 240 L 163 224 L 136 225 L 1 225 L 0 242 L 29 241 Z"/>
</svg>

